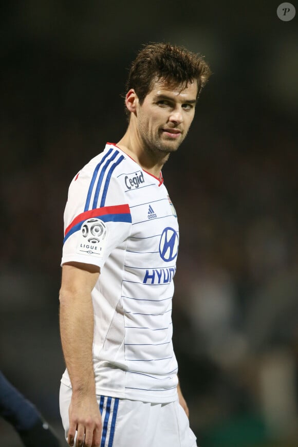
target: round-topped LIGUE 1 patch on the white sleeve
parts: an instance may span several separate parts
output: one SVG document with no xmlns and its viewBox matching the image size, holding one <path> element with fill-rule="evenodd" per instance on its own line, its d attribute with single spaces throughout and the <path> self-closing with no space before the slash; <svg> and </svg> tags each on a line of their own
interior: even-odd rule
<svg viewBox="0 0 298 447">
<path fill-rule="evenodd" d="M 86 220 L 78 238 L 77 252 L 102 257 L 106 244 L 107 228 L 100 219 Z"/>
</svg>

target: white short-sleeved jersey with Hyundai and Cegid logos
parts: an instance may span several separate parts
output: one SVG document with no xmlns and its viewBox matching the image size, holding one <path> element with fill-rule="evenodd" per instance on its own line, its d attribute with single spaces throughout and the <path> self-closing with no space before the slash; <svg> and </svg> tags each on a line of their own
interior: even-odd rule
<svg viewBox="0 0 298 447">
<path fill-rule="evenodd" d="M 107 143 L 72 180 L 62 264 L 100 267 L 92 291 L 98 395 L 177 399 L 172 345 L 179 230 L 163 180 Z M 70 386 L 67 370 L 62 382 Z"/>
</svg>

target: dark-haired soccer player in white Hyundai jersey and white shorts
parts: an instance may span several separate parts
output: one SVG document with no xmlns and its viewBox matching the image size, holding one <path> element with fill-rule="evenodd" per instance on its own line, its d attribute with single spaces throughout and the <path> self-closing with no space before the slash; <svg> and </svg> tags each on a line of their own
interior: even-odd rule
<svg viewBox="0 0 298 447">
<path fill-rule="evenodd" d="M 126 133 L 70 184 L 60 290 L 69 445 L 197 445 L 172 345 L 179 229 L 161 169 L 209 76 L 183 47 L 143 47 L 127 81 Z"/>
</svg>

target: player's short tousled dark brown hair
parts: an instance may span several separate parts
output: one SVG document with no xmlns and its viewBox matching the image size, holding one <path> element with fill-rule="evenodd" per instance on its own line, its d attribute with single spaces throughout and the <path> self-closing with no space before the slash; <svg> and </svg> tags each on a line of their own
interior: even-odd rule
<svg viewBox="0 0 298 447">
<path fill-rule="evenodd" d="M 210 75 L 210 68 L 200 54 L 169 43 L 150 43 L 139 51 L 131 65 L 126 92 L 134 88 L 142 104 L 157 80 L 163 80 L 169 85 L 181 84 L 183 88 L 189 82 L 196 81 L 198 98 Z"/>
</svg>

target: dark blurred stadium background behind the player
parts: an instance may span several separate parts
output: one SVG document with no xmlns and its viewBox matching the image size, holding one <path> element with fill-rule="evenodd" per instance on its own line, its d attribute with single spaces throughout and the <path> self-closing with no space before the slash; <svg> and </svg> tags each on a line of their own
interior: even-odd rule
<svg viewBox="0 0 298 447">
<path fill-rule="evenodd" d="M 1 7 L 1 369 L 63 437 L 63 209 L 125 131 L 141 44 L 206 55 L 213 76 L 164 166 L 178 213 L 174 344 L 201 447 L 297 445 L 297 15 L 278 2 L 27 0 Z M 297 9 L 297 5 L 296 9 Z M 1 440 L 20 445 L 0 420 Z"/>
</svg>

